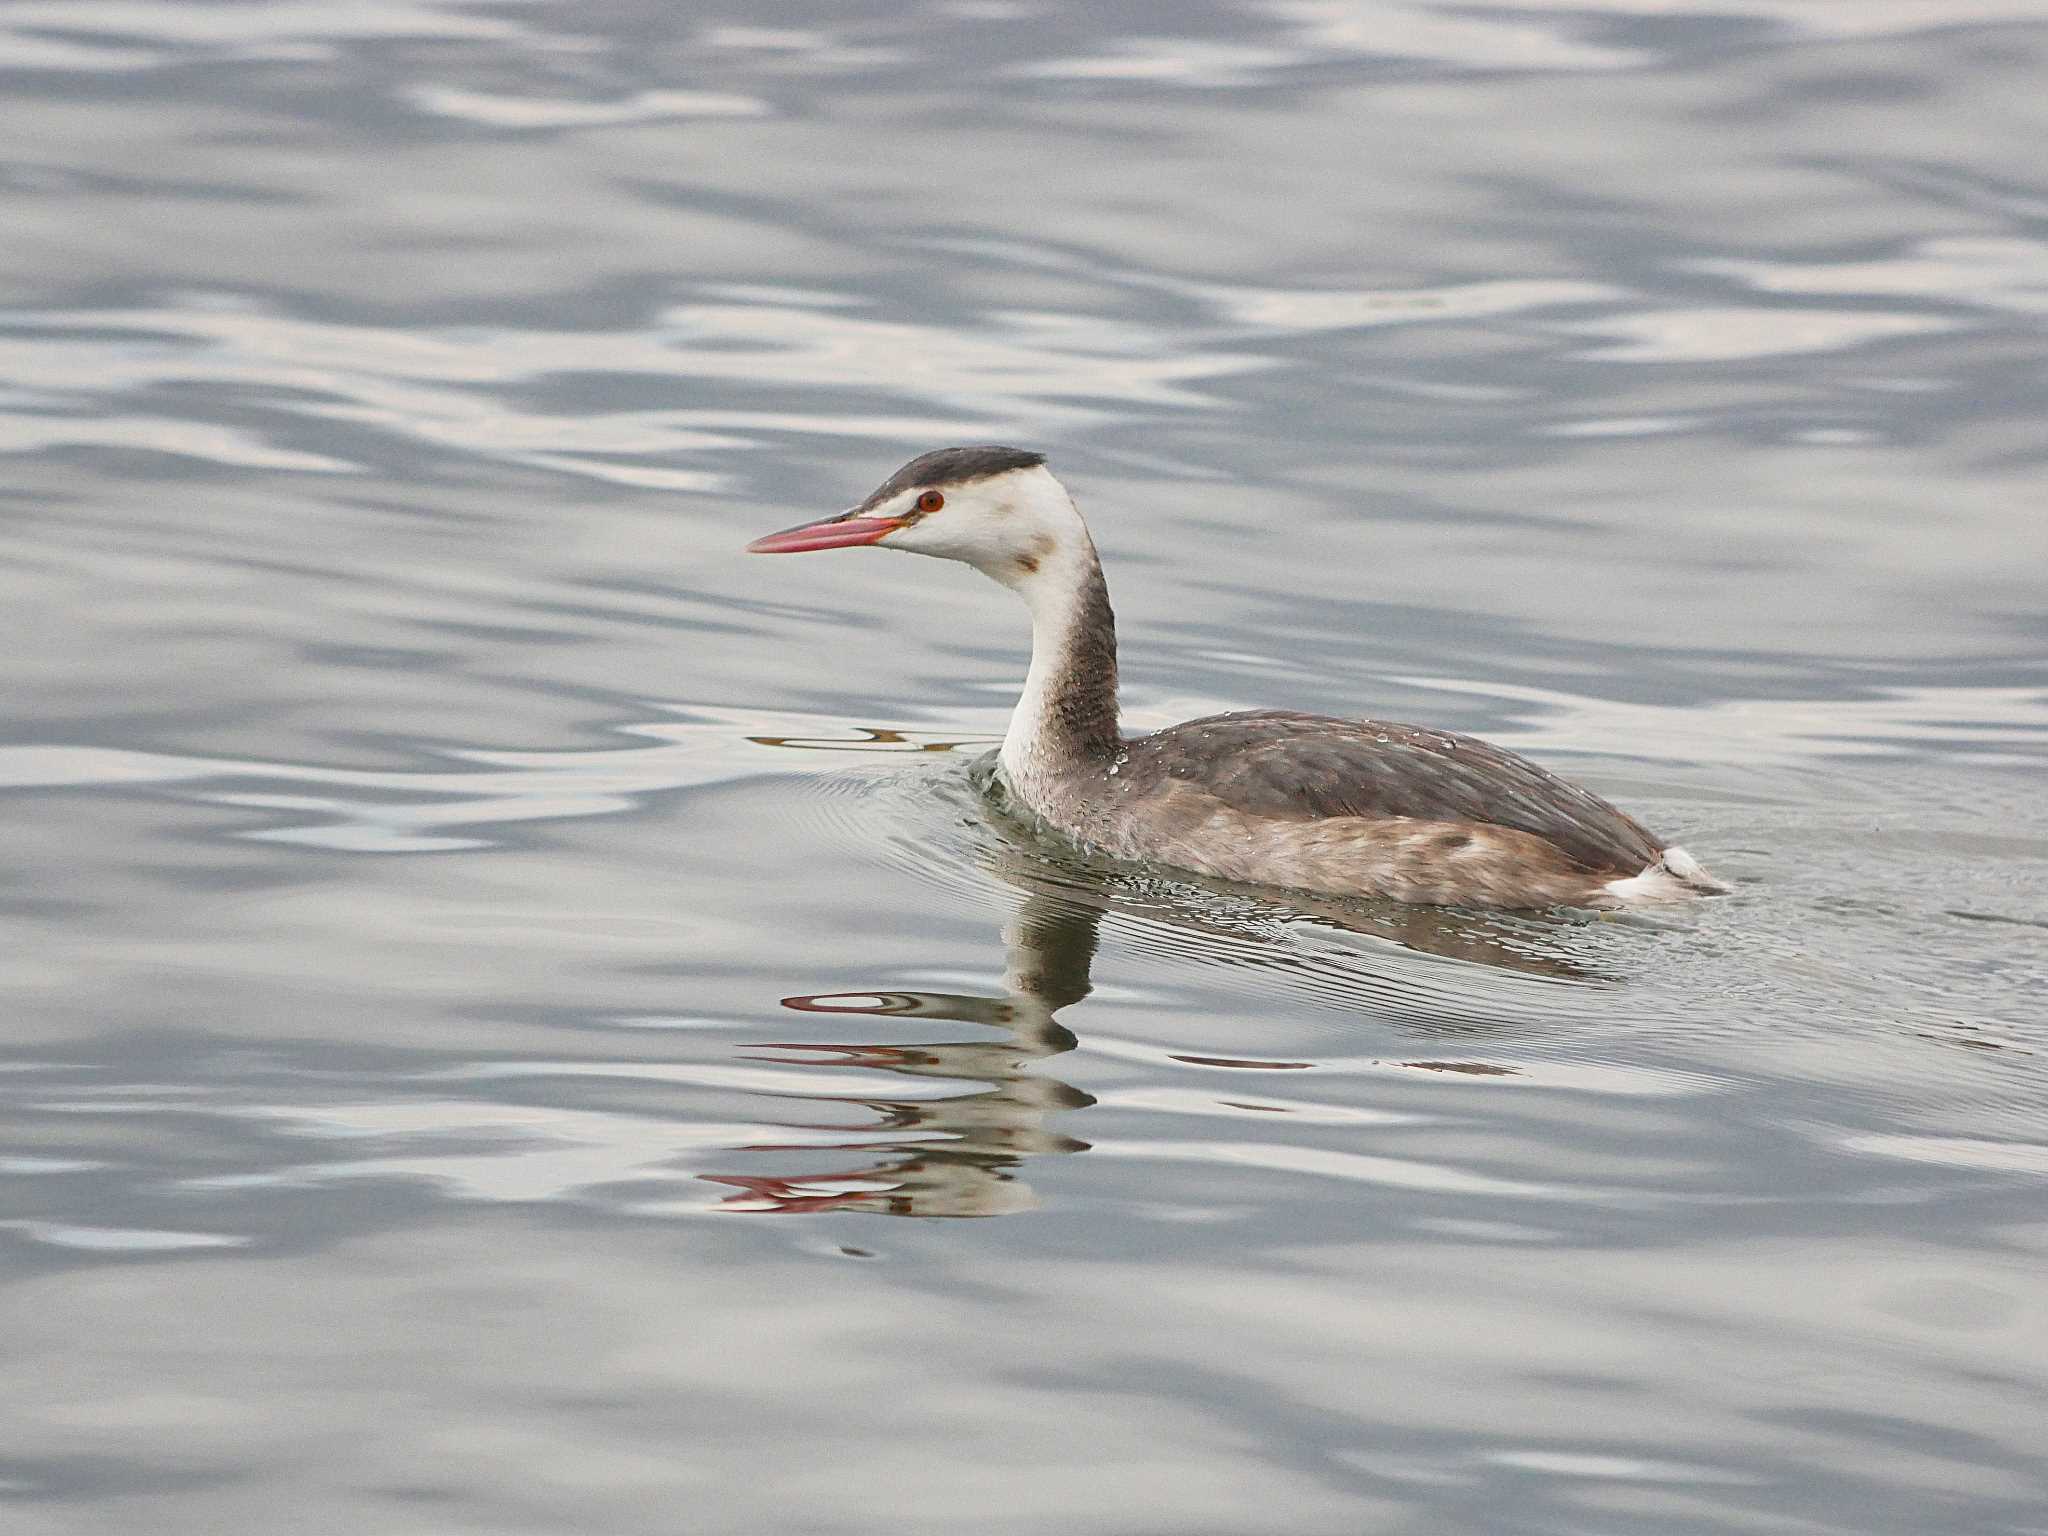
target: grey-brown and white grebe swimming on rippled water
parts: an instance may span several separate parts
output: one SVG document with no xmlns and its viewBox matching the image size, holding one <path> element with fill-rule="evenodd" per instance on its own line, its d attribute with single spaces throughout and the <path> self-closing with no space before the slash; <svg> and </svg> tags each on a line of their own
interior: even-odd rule
<svg viewBox="0 0 2048 1536">
<path fill-rule="evenodd" d="M 1726 889 L 1597 795 L 1468 735 L 1239 711 L 1124 737 L 1102 563 L 1042 453 L 938 449 L 850 512 L 748 549 L 854 545 L 965 561 L 1024 598 L 1032 651 L 1004 784 L 1112 858 L 1470 907 L 1622 907 Z"/>
</svg>

